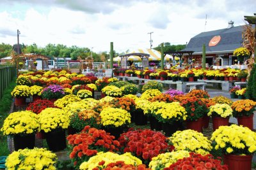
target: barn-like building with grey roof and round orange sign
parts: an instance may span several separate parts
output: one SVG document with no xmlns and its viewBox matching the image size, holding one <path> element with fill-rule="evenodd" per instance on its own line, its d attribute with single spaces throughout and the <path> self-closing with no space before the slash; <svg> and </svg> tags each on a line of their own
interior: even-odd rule
<svg viewBox="0 0 256 170">
<path fill-rule="evenodd" d="M 228 27 L 215 31 L 201 32 L 191 38 L 182 51 L 194 51 L 192 59 L 197 65 L 202 63 L 202 46 L 205 44 L 206 66 L 230 66 L 237 59 L 233 56 L 234 50 L 242 46 L 243 25 L 234 27 L 234 22 L 228 22 Z M 184 62 L 188 62 L 185 57 Z"/>
</svg>

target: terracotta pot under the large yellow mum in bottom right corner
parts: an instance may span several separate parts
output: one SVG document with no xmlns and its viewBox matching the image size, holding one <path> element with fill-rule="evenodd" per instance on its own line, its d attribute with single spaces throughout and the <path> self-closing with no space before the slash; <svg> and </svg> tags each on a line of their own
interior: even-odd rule
<svg viewBox="0 0 256 170">
<path fill-rule="evenodd" d="M 252 155 L 224 155 L 223 160 L 230 170 L 252 169 Z"/>
</svg>

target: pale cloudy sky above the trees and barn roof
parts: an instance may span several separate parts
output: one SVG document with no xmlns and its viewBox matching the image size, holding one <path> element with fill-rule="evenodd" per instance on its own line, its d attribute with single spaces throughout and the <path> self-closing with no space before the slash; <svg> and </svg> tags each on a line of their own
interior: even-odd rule
<svg viewBox="0 0 256 170">
<path fill-rule="evenodd" d="M 200 32 L 244 25 L 256 0 L 0 0 L 0 43 L 52 44 L 118 53 L 163 42 L 186 44 Z"/>
</svg>

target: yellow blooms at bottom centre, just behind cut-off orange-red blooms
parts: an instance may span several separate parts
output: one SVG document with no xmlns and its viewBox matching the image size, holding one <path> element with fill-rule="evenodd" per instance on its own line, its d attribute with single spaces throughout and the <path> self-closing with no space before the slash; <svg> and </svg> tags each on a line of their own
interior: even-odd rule
<svg viewBox="0 0 256 170">
<path fill-rule="evenodd" d="M 131 164 L 131 165 L 141 165 L 142 162 L 137 157 L 132 156 L 131 153 L 126 152 L 122 155 L 118 155 L 117 153 L 113 152 L 99 152 L 97 155 L 91 157 L 87 162 L 83 162 L 79 169 L 81 170 L 92 170 L 93 168 L 97 167 L 99 165 L 99 162 L 102 160 L 105 161 L 105 164 L 103 166 L 107 166 L 110 163 L 116 162 L 116 161 L 124 161 L 125 164 Z"/>
</svg>

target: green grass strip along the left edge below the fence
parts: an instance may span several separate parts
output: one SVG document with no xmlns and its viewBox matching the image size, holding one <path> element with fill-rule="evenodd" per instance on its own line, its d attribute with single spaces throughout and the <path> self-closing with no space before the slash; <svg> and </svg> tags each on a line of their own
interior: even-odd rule
<svg viewBox="0 0 256 170">
<path fill-rule="evenodd" d="M 0 101 L 0 129 L 3 126 L 4 119 L 8 116 L 12 104 L 11 92 L 14 89 L 16 83 L 12 81 L 10 85 L 4 90 L 4 95 Z M 7 146 L 7 137 L 3 136 L 3 132 L 0 132 L 0 156 L 9 155 Z"/>
</svg>

